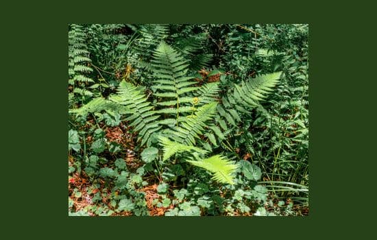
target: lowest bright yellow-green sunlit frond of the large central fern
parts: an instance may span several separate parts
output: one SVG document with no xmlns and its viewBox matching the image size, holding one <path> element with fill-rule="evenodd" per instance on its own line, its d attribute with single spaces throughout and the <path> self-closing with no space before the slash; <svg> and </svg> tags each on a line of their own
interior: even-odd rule
<svg viewBox="0 0 377 240">
<path fill-rule="evenodd" d="M 233 164 L 221 155 L 211 156 L 203 160 L 188 160 L 187 162 L 210 171 L 212 179 L 217 182 L 234 184 L 234 173 L 238 165 Z"/>
</svg>

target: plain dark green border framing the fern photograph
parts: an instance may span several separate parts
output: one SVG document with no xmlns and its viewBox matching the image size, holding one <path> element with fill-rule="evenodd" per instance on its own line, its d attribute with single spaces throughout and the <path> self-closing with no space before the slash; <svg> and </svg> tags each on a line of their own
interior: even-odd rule
<svg viewBox="0 0 377 240">
<path fill-rule="evenodd" d="M 196 3 L 195 3 L 196 2 Z M 375 86 L 371 6 L 304 1 L 102 1 L 3 7 L 1 200 L 14 237 L 361 237 L 372 222 L 375 182 L 362 133 Z M 360 1 L 359 1 L 360 2 Z M 357 15 L 357 16 L 356 16 Z M 356 22 L 356 19 L 358 22 Z M 9 23 L 12 24 L 9 24 Z M 308 217 L 68 217 L 66 199 L 68 23 L 309 23 L 310 213 Z M 371 27 L 371 28 L 369 28 Z M 372 55 L 372 54 L 371 54 Z M 373 55 L 372 55 L 373 56 Z M 374 84 L 375 85 L 375 84 Z M 358 95 L 357 95 L 358 94 Z M 357 102 L 356 99 L 361 100 Z M 365 109 L 363 109 L 365 108 Z M 356 119 L 361 119 L 357 123 Z M 351 142 L 355 141 L 356 142 Z M 370 161 L 369 161 L 370 162 Z M 375 163 L 374 163 L 375 164 Z M 358 173 L 363 173 L 358 177 Z"/>
</svg>

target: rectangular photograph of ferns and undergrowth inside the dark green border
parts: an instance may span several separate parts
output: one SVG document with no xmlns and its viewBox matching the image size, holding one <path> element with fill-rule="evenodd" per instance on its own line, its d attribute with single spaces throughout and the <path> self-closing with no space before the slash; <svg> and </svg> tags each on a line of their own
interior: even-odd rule
<svg viewBox="0 0 377 240">
<path fill-rule="evenodd" d="M 308 25 L 69 25 L 69 215 L 306 215 Z"/>
</svg>

